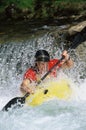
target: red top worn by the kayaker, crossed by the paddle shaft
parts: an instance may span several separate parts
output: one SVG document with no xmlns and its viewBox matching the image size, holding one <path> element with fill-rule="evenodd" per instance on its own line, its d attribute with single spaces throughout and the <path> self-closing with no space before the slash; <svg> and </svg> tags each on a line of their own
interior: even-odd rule
<svg viewBox="0 0 86 130">
<path fill-rule="evenodd" d="M 48 69 L 50 70 L 59 60 L 58 59 L 52 59 L 48 62 Z M 61 64 L 58 64 L 57 67 L 60 67 Z M 57 76 L 57 68 L 55 67 L 52 72 L 51 75 L 53 75 L 54 77 Z M 29 68 L 25 74 L 24 74 L 24 79 L 29 79 L 30 81 L 37 81 L 37 77 L 36 77 L 36 71 L 33 68 Z"/>
</svg>

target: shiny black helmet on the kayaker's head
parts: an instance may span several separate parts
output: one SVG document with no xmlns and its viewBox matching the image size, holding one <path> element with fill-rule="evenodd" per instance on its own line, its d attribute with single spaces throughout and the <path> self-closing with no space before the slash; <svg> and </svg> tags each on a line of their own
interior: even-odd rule
<svg viewBox="0 0 86 130">
<path fill-rule="evenodd" d="M 50 60 L 50 56 L 46 50 L 38 50 L 35 54 L 36 61 L 44 61 L 48 62 Z"/>
</svg>

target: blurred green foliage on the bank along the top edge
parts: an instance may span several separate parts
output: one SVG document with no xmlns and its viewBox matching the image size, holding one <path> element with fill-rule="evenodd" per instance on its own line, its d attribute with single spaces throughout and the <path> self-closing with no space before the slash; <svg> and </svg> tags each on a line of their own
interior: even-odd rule
<svg viewBox="0 0 86 130">
<path fill-rule="evenodd" d="M 80 3 L 83 4 L 81 5 Z M 29 10 L 34 17 L 52 17 L 61 13 L 77 12 L 79 9 L 86 9 L 86 0 L 0 0 L 0 12 L 4 12 L 5 8 L 11 3 L 20 10 Z M 76 4 L 78 6 L 76 6 Z"/>
</svg>

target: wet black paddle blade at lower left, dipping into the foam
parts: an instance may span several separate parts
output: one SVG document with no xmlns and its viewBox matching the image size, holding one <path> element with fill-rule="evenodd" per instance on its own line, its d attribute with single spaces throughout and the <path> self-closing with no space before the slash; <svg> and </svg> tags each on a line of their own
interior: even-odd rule
<svg viewBox="0 0 86 130">
<path fill-rule="evenodd" d="M 25 97 L 16 97 L 10 100 L 4 107 L 3 111 L 8 111 L 10 108 L 15 109 L 22 107 L 25 103 Z"/>
</svg>

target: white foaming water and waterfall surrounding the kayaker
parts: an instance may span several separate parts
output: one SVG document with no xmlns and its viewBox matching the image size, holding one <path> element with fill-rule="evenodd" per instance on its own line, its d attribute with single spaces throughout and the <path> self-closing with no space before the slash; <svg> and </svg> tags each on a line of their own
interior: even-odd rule
<svg viewBox="0 0 86 130">
<path fill-rule="evenodd" d="M 53 46 L 54 38 L 43 35 L 21 43 L 6 42 L 0 45 L 0 110 L 12 98 L 20 96 L 20 84 L 25 70 L 34 64 L 38 49 L 46 49 L 51 57 L 60 58 L 61 50 Z M 56 52 L 58 50 L 58 53 Z M 70 101 L 51 100 L 37 107 L 23 107 L 0 111 L 0 130 L 85 130 L 86 79 L 84 61 L 72 52 L 75 65 L 64 73 L 72 81 L 75 95 Z M 86 73 L 86 72 L 85 72 Z"/>
</svg>

